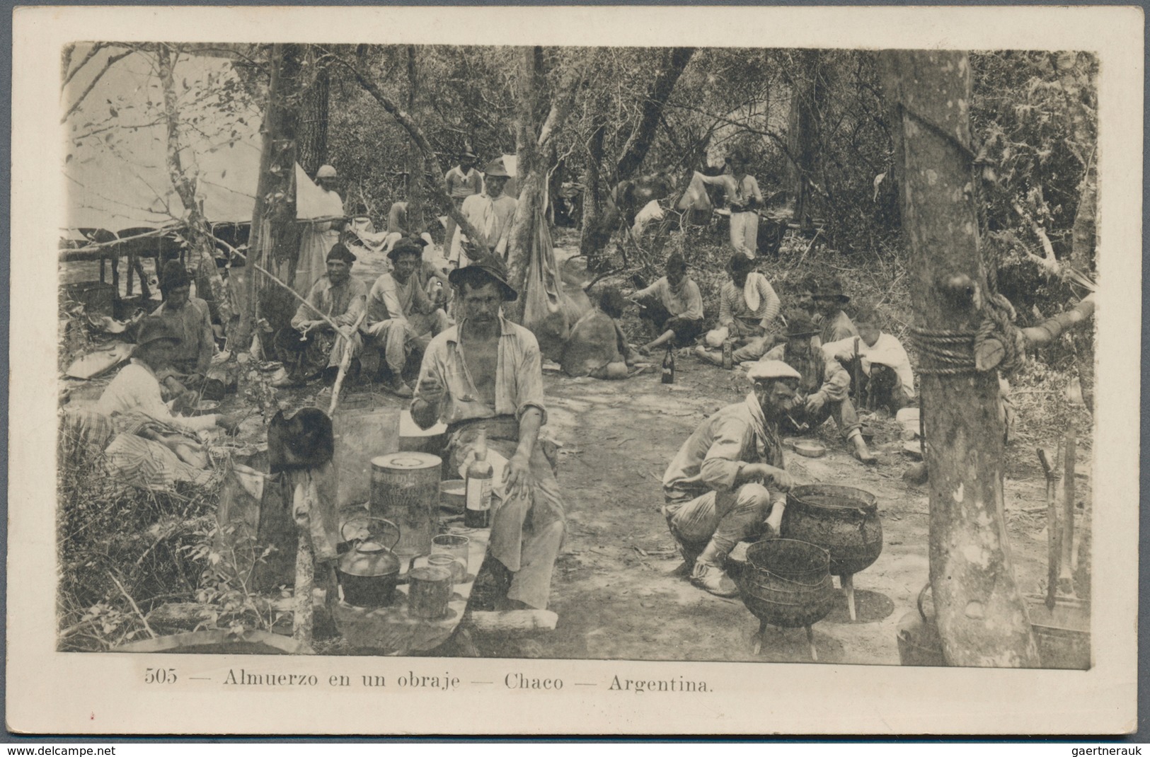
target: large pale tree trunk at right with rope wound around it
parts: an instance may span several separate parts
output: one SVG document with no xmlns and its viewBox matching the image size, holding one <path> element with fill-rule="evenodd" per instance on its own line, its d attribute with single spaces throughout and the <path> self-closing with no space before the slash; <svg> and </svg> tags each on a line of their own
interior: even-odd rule
<svg viewBox="0 0 1150 757">
<path fill-rule="evenodd" d="M 892 51 L 881 60 L 897 116 L 895 163 L 923 355 L 930 581 L 943 651 L 956 666 L 1037 666 L 1003 513 L 998 378 L 974 366 L 975 334 L 995 296 L 979 248 L 967 55 Z"/>
</svg>

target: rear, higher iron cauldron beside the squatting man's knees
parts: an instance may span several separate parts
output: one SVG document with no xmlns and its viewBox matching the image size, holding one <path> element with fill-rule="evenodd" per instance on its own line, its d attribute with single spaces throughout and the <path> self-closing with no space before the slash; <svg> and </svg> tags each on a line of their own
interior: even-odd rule
<svg viewBox="0 0 1150 757">
<path fill-rule="evenodd" d="M 856 620 L 854 574 L 882 552 L 877 498 L 853 487 L 795 487 L 787 495 L 782 535 L 818 544 L 830 553 L 830 574 L 839 576 L 846 609 Z"/>
</svg>

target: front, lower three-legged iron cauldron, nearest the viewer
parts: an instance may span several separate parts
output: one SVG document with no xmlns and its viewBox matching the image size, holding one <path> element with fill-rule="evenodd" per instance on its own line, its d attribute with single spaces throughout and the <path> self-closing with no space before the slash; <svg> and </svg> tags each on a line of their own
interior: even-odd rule
<svg viewBox="0 0 1150 757">
<path fill-rule="evenodd" d="M 830 556 L 814 544 L 773 538 L 751 544 L 746 567 L 737 573 L 743 604 L 759 619 L 754 653 L 762 649 L 767 625 L 806 628 L 811 659 L 818 660 L 811 626 L 827 617 L 835 604 Z"/>
</svg>

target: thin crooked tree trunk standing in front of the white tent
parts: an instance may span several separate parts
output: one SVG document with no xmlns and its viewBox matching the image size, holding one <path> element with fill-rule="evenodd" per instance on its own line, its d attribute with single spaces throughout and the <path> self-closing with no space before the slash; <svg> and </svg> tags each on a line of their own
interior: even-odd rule
<svg viewBox="0 0 1150 757">
<path fill-rule="evenodd" d="M 195 200 L 195 174 L 185 170 L 184 159 L 181 155 L 183 145 L 179 137 L 181 114 L 174 78 L 175 60 L 172 60 L 172 48 L 167 44 L 156 45 L 156 69 L 160 85 L 163 87 L 163 110 L 168 128 L 166 161 L 168 177 L 187 213 L 185 234 L 191 254 L 197 260 L 197 281 L 204 282 L 207 290 L 202 291 L 200 285 L 197 285 L 197 292 L 208 300 L 213 313 L 224 328 L 231 329 L 238 314 L 232 306 L 228 285 L 216 269 L 215 237 L 207 219 L 204 217 L 204 211 Z M 191 160 L 194 161 L 194 156 Z"/>
</svg>

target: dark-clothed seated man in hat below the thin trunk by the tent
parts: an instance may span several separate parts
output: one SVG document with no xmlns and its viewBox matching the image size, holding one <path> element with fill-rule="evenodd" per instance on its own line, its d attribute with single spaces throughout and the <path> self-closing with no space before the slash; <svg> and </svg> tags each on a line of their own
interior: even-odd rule
<svg viewBox="0 0 1150 757">
<path fill-rule="evenodd" d="M 191 286 L 192 278 L 182 262 L 169 260 L 164 263 L 160 280 L 163 303 L 152 315 L 171 327 L 179 337 L 179 346 L 171 355 L 171 365 L 158 378 L 172 395 L 206 395 L 208 399 L 223 399 L 223 372 L 212 370 L 215 335 L 208 304 L 192 297 Z"/>
</svg>

